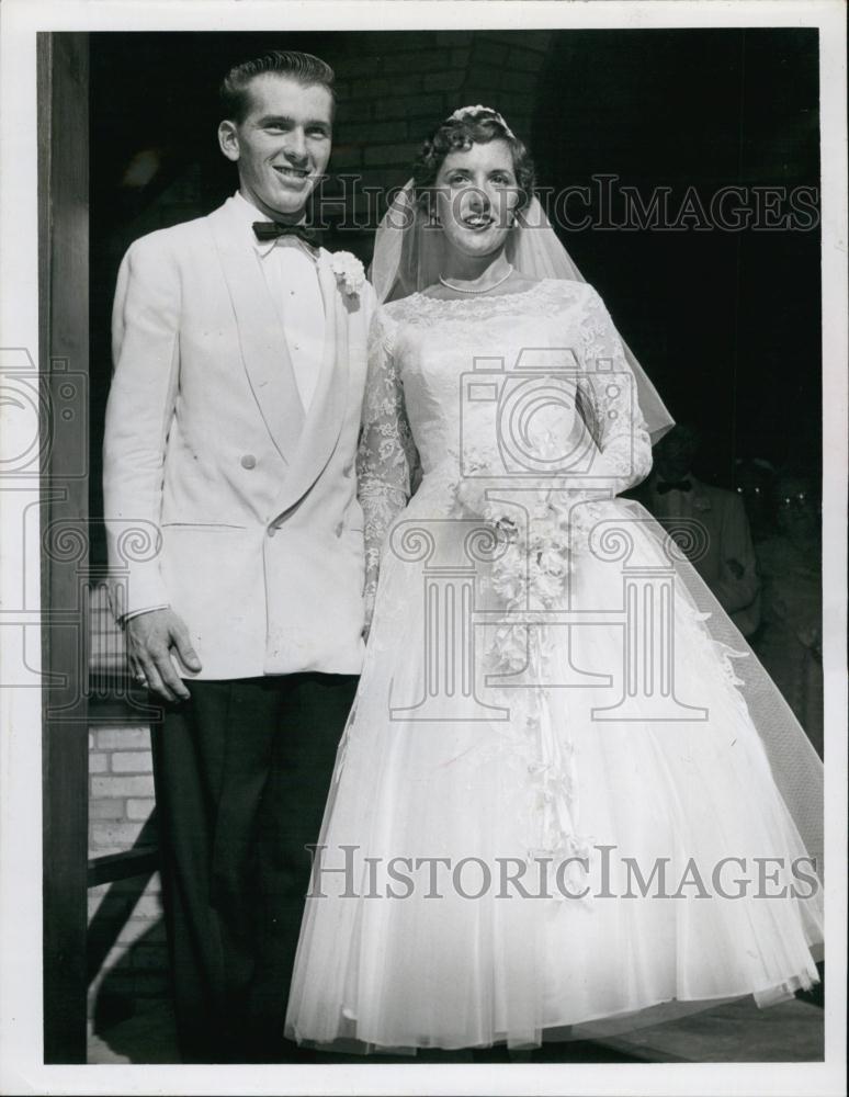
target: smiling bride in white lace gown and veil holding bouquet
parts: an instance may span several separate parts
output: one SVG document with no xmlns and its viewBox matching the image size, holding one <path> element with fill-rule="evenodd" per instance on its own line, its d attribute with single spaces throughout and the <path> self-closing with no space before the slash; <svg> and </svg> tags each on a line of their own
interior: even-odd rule
<svg viewBox="0 0 849 1097">
<path fill-rule="evenodd" d="M 373 279 L 370 638 L 286 1036 L 534 1047 L 810 987 L 818 759 L 618 497 L 671 419 L 497 112 L 424 144 Z"/>
</svg>

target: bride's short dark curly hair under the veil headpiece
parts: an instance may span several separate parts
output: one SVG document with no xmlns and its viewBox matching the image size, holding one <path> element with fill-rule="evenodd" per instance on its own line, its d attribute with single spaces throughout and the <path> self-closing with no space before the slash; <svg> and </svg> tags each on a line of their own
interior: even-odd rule
<svg viewBox="0 0 849 1097">
<path fill-rule="evenodd" d="M 488 106 L 464 112 L 460 118 L 441 122 L 421 146 L 412 165 L 412 182 L 416 197 L 423 197 L 433 188 L 439 169 L 449 152 L 468 149 L 473 145 L 486 145 L 490 140 L 503 140 L 513 156 L 513 170 L 519 184 L 517 212 L 524 210 L 533 197 L 536 172 L 531 155 L 523 142 L 512 134 L 497 111 Z"/>
</svg>

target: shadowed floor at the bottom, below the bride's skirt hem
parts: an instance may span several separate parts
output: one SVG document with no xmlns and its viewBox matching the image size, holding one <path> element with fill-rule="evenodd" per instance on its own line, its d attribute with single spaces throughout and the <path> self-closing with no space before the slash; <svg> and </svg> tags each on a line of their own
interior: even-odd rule
<svg viewBox="0 0 849 1097">
<path fill-rule="evenodd" d="M 469 1062 L 508 1062 L 503 1050 Z M 737 1002 L 671 1024 L 641 1029 L 627 1039 L 545 1044 L 514 1056 L 520 1062 L 746 1063 L 816 1062 L 823 1059 L 823 1010 L 810 1000 L 758 1009 Z M 89 1038 L 90 1063 L 176 1063 L 173 1019 L 156 1004 L 105 1033 Z M 443 1061 L 460 1061 L 448 1053 Z"/>
</svg>

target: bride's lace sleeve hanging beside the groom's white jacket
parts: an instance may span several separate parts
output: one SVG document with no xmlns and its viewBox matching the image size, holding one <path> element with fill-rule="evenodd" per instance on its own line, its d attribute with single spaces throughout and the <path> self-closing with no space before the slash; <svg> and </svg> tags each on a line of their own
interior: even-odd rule
<svg viewBox="0 0 849 1097">
<path fill-rule="evenodd" d="M 378 308 L 369 333 L 369 372 L 356 452 L 358 494 L 365 517 L 366 629 L 377 573 L 392 523 L 407 506 L 416 448 L 404 408 L 404 387 L 393 352 L 395 325 Z"/>
</svg>

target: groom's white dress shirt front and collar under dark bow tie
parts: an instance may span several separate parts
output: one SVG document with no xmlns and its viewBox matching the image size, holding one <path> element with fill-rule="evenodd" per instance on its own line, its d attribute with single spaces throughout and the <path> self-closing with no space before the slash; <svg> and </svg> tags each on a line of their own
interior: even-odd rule
<svg viewBox="0 0 849 1097">
<path fill-rule="evenodd" d="M 258 240 L 253 222 L 271 218 L 238 192 L 236 200 L 245 210 L 246 227 L 260 257 L 269 292 L 280 312 L 295 384 L 306 412 L 315 395 L 325 349 L 325 305 L 315 255 L 294 236 Z"/>
</svg>

